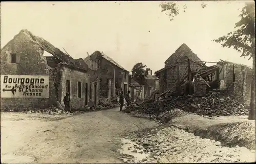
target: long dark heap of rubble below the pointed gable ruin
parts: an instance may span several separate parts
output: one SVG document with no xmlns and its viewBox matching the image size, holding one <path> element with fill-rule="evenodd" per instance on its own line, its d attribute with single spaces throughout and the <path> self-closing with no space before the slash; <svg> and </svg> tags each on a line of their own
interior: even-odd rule
<svg viewBox="0 0 256 164">
<path fill-rule="evenodd" d="M 248 109 L 241 102 L 220 92 L 209 92 L 205 97 L 194 95 L 167 96 L 165 94 L 127 107 L 126 110 L 141 110 L 141 112 L 150 115 L 151 118 L 157 118 L 160 113 L 172 112 L 176 108 L 185 112 L 208 116 L 248 115 Z"/>
</svg>

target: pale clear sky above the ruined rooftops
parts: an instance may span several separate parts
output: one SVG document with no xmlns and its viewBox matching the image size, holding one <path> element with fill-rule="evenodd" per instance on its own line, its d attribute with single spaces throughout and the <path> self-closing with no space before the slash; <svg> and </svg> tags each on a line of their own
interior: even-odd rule
<svg viewBox="0 0 256 164">
<path fill-rule="evenodd" d="M 141 2 L 1 2 L 1 48 L 27 29 L 73 58 L 103 51 L 128 71 L 142 62 L 153 72 L 182 43 L 202 61 L 228 60 L 252 66 L 232 48 L 213 42 L 239 21 L 245 1 L 178 1 L 186 4 L 170 21 L 160 1 Z"/>
</svg>

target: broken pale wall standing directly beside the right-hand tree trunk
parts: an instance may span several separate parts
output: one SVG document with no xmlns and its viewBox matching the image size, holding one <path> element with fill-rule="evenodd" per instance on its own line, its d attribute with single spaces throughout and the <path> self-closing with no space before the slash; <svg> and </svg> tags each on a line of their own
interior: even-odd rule
<svg viewBox="0 0 256 164">
<path fill-rule="evenodd" d="M 220 89 L 241 100 L 245 107 L 250 106 L 252 69 L 246 65 L 222 60 L 220 66 Z"/>
</svg>

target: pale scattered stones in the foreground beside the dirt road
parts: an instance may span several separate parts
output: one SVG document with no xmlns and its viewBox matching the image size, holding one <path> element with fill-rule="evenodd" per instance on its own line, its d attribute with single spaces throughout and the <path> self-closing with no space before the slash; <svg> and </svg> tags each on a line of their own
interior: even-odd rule
<svg viewBox="0 0 256 164">
<path fill-rule="evenodd" d="M 255 150 L 245 147 L 223 147 L 214 139 L 201 138 L 175 127 L 156 128 L 146 134 L 132 133 L 126 137 L 130 154 L 141 159 L 127 159 L 128 163 L 184 163 L 184 162 L 252 162 Z M 138 155 L 133 155 L 137 157 Z"/>
</svg>

